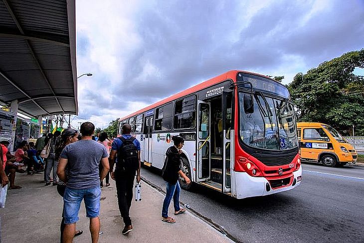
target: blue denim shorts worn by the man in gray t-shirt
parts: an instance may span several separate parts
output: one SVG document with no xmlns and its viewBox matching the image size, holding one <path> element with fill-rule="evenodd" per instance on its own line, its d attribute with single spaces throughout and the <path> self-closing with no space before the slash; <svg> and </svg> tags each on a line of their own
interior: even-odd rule
<svg viewBox="0 0 364 243">
<path fill-rule="evenodd" d="M 85 201 L 86 217 L 96 218 L 100 215 L 100 186 L 90 189 L 73 189 L 66 187 L 63 196 L 64 223 L 74 224 L 78 221 L 78 212 L 82 199 Z"/>
</svg>

